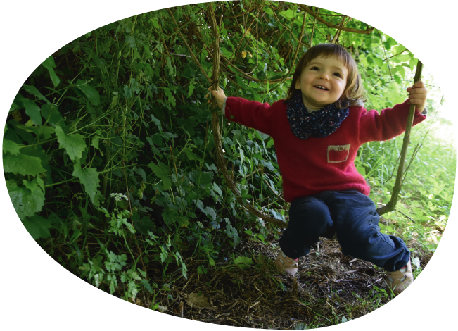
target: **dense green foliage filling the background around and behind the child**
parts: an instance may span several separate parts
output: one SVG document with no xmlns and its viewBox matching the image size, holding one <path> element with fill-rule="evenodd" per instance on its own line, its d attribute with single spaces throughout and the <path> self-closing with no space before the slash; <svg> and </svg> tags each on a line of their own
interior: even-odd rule
<svg viewBox="0 0 458 331">
<path fill-rule="evenodd" d="M 406 98 L 414 55 L 366 23 L 282 1 L 212 7 L 228 96 L 281 99 L 300 56 L 336 42 L 355 56 L 366 108 Z M 207 4 L 152 11 L 65 44 L 27 78 L 4 129 L 6 186 L 32 238 L 75 275 L 125 299 L 144 291 L 153 308 L 167 282 L 187 277 L 190 258 L 201 261 L 199 273 L 219 261 L 250 264 L 231 249 L 243 238 L 278 235 L 238 206 L 217 168 L 205 98 L 213 44 L 207 11 Z M 412 139 L 420 142 L 425 127 Z M 222 137 L 243 199 L 287 220 L 272 138 L 226 121 Z M 357 168 L 376 202 L 390 198 L 401 144 L 361 148 Z M 400 213 L 386 215 L 382 230 L 434 251 L 450 213 L 456 156 L 447 146 L 423 151 L 409 167 L 415 175 L 401 192 Z"/>
</svg>

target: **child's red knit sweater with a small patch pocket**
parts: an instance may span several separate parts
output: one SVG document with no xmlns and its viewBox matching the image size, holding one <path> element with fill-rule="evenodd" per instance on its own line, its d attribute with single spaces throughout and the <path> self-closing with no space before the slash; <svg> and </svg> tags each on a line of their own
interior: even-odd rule
<svg viewBox="0 0 458 331">
<path fill-rule="evenodd" d="M 369 185 L 355 168 L 357 150 L 365 142 L 391 139 L 404 132 L 409 104 L 398 104 L 381 113 L 352 106 L 335 132 L 324 138 L 308 139 L 295 137 L 291 132 L 284 100 L 269 106 L 229 97 L 224 114 L 228 120 L 253 127 L 274 139 L 284 199 L 291 202 L 300 196 L 331 190 L 357 189 L 369 195 Z M 416 111 L 414 125 L 425 118 Z"/>
</svg>

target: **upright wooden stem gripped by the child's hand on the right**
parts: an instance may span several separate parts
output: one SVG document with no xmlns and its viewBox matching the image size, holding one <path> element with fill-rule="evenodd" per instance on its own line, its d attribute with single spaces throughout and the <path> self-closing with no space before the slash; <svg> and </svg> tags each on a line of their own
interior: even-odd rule
<svg viewBox="0 0 458 331">
<path fill-rule="evenodd" d="M 423 68 L 423 64 L 419 60 L 416 65 L 414 84 L 420 80 L 422 68 Z M 397 196 L 399 195 L 399 192 L 401 190 L 401 185 L 402 185 L 402 174 L 404 173 L 405 157 L 407 156 L 407 147 L 409 146 L 409 142 L 410 142 L 410 132 L 412 131 L 412 124 L 414 123 L 414 115 L 415 115 L 415 105 L 410 104 L 409 117 L 407 117 L 407 126 L 406 126 L 405 134 L 404 134 L 404 142 L 402 142 L 401 159 L 399 161 L 399 168 L 397 168 L 395 186 L 393 186 L 393 193 L 391 194 L 391 199 L 388 202 L 388 204 L 376 210 L 376 212 L 379 215 L 388 213 L 388 211 L 393 211 L 396 206 Z"/>
</svg>

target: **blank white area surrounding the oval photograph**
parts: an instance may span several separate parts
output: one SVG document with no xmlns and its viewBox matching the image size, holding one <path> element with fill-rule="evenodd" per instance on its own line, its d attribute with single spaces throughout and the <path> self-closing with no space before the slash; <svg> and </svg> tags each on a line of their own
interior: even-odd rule
<svg viewBox="0 0 458 331">
<path fill-rule="evenodd" d="M 167 1 L 167 6 L 192 1 Z M 1 109 L 4 118 L 20 85 L 49 54 L 89 30 L 162 8 L 165 1 L 8 1 L 1 5 Z M 434 75 L 452 104 L 456 79 L 454 1 L 330 1 L 307 4 L 332 9 L 374 25 L 407 46 Z M 1 319 L 4 330 L 222 329 L 165 316 L 125 303 L 79 280 L 49 258 L 15 215 L 4 180 L 1 218 Z M 450 330 L 455 323 L 457 235 L 452 208 L 442 242 L 407 292 L 383 308 L 336 330 Z M 199 323 L 199 324 L 198 324 Z"/>
</svg>

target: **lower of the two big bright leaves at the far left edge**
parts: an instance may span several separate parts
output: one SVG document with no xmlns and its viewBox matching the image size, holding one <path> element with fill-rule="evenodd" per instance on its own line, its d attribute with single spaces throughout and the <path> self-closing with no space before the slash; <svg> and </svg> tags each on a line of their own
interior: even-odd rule
<svg viewBox="0 0 458 331">
<path fill-rule="evenodd" d="M 44 192 L 39 187 L 37 178 L 31 182 L 23 180 L 23 183 L 25 187 L 19 187 L 15 180 L 6 181 L 6 189 L 11 203 L 20 220 L 42 211 L 44 206 Z"/>
</svg>

